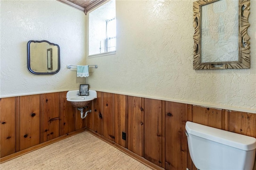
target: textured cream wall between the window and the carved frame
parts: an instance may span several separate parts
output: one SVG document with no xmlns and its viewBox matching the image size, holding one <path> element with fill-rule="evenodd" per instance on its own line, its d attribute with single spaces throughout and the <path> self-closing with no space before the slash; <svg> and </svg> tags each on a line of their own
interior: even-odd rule
<svg viewBox="0 0 256 170">
<path fill-rule="evenodd" d="M 193 69 L 193 1 L 116 1 L 115 55 L 87 58 L 91 89 L 256 113 L 256 1 L 251 68 Z"/>
</svg>

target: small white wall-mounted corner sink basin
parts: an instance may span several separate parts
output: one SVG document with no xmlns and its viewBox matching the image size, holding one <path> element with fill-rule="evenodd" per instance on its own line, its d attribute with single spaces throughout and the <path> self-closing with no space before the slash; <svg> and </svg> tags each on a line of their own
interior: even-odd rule
<svg viewBox="0 0 256 170">
<path fill-rule="evenodd" d="M 93 99 L 97 98 L 97 92 L 94 90 L 89 90 L 88 96 L 78 96 L 79 90 L 68 91 L 67 101 L 71 102 L 74 107 L 87 107 L 90 105 Z"/>
</svg>

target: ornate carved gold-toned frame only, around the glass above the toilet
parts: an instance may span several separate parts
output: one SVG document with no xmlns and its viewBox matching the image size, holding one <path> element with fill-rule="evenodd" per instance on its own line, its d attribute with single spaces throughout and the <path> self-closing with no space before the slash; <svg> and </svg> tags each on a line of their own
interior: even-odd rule
<svg viewBox="0 0 256 170">
<path fill-rule="evenodd" d="M 201 62 L 201 7 L 219 0 L 198 0 L 193 3 L 194 61 L 193 69 L 247 69 L 250 68 L 250 37 L 247 29 L 250 26 L 250 0 L 238 0 L 238 61 Z"/>
</svg>

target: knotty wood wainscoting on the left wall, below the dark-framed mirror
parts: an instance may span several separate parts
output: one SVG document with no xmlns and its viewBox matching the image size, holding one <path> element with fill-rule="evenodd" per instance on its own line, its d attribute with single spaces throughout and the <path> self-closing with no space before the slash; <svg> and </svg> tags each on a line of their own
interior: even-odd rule
<svg viewBox="0 0 256 170">
<path fill-rule="evenodd" d="M 66 93 L 0 99 L 0 158 L 86 127 Z M 49 143 L 49 142 L 48 142 Z"/>
</svg>

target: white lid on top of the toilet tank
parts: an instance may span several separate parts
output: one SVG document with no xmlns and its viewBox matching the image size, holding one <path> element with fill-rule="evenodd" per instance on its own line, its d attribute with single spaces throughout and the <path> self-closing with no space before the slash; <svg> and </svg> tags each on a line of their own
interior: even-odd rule
<svg viewBox="0 0 256 170">
<path fill-rule="evenodd" d="M 256 138 L 254 137 L 208 127 L 189 121 L 186 122 L 186 130 L 188 134 L 232 146 L 234 148 L 242 150 L 254 150 L 256 148 Z"/>
</svg>

